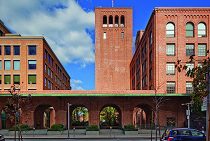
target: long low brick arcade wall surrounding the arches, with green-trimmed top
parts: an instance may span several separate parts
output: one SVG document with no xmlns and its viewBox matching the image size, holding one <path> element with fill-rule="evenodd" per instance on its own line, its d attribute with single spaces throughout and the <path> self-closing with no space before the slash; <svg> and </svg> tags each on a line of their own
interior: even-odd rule
<svg viewBox="0 0 210 141">
<path fill-rule="evenodd" d="M 123 91 L 123 92 L 100 92 L 96 91 L 44 91 L 42 93 L 32 93 L 32 108 L 27 111 L 27 116 L 23 116 L 23 123 L 25 119 L 31 127 L 34 127 L 35 109 L 39 105 L 50 105 L 55 108 L 55 121 L 54 123 L 67 125 L 67 103 L 72 105 L 83 105 L 89 111 L 89 125 L 99 125 L 99 114 L 101 109 L 106 105 L 117 105 L 121 110 L 121 124 L 122 127 L 127 124 L 133 123 L 133 110 L 139 105 L 148 105 L 151 108 L 155 107 L 153 98 L 155 94 L 153 91 L 142 93 L 142 91 Z M 141 92 L 141 93 L 140 93 Z M 25 92 L 23 95 L 27 95 Z M 149 94 L 148 94 L 149 93 Z M 0 109 L 6 103 L 9 94 L 0 94 Z M 190 101 L 190 97 L 181 94 L 156 94 L 156 96 L 165 96 L 167 99 L 160 107 L 159 119 L 160 126 L 167 125 L 167 118 L 174 118 L 177 127 L 183 127 L 185 121 L 185 107 L 181 106 L 182 103 Z M 140 106 L 141 107 L 141 106 Z M 24 108 L 24 107 L 23 107 Z M 24 111 L 24 110 L 23 110 Z M 150 112 L 151 113 L 151 112 Z M 24 114 L 24 113 L 23 113 Z M 35 115 L 35 116 L 34 116 Z"/>
</svg>

